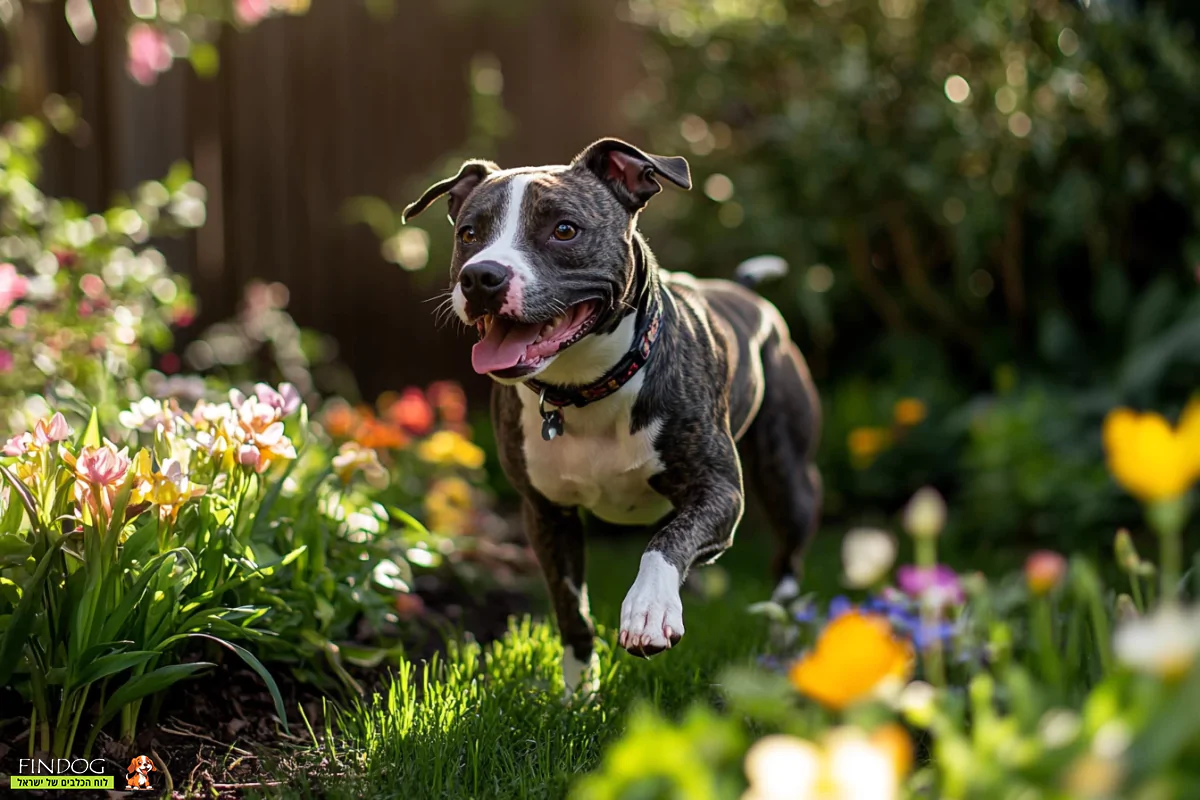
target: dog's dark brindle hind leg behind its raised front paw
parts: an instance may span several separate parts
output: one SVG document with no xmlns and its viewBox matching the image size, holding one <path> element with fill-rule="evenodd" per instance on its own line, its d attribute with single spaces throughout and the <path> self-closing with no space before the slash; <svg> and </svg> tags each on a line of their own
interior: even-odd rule
<svg viewBox="0 0 1200 800">
<path fill-rule="evenodd" d="M 793 342 L 773 333 L 762 350 L 766 389 L 758 414 L 742 439 L 746 482 L 775 533 L 772 559 L 775 600 L 799 594 L 800 558 L 821 516 L 821 474 L 814 458 L 821 402 Z"/>
</svg>

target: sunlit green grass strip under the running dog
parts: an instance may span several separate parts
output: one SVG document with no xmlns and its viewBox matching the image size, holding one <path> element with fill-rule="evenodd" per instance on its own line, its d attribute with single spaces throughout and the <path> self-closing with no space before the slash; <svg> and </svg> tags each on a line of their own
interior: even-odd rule
<svg viewBox="0 0 1200 800">
<path fill-rule="evenodd" d="M 750 534 L 745 531 L 744 534 Z M 757 533 L 757 531 L 754 531 Z M 698 700 L 719 703 L 718 674 L 754 658 L 767 627 L 745 613 L 770 593 L 766 536 L 744 535 L 719 561 L 728 589 L 684 596 L 686 634 L 650 661 L 616 646 L 614 624 L 644 541 L 593 543 L 589 587 L 599 627 L 601 696 L 562 700 L 562 648 L 542 619 L 514 620 L 508 634 L 479 648 L 452 645 L 444 660 L 406 664 L 389 691 L 335 715 L 322 754 L 355 772 L 319 788 L 289 780 L 288 795 L 420 798 L 560 798 L 594 769 L 605 745 L 640 703 L 678 715 Z M 836 581 L 838 541 L 822 537 L 809 558 L 806 589 Z M 709 567 L 713 569 L 713 567 Z"/>
</svg>

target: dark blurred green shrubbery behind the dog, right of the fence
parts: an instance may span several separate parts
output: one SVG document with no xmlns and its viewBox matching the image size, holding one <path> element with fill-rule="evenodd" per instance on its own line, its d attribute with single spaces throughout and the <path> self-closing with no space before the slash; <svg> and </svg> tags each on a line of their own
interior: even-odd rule
<svg viewBox="0 0 1200 800">
<path fill-rule="evenodd" d="M 1195 385 L 1200 59 L 1189 24 L 1123 7 L 625 7 L 650 38 L 634 120 L 701 190 L 644 227 L 668 267 L 792 265 L 764 291 L 826 398 L 833 513 L 895 507 L 916 473 L 972 521 L 1000 511 L 973 529 L 990 541 L 1073 545 L 1120 507 L 1094 469 L 1104 410 Z M 929 421 L 876 435 L 901 397 Z M 854 463 L 858 428 L 877 457 Z"/>
</svg>

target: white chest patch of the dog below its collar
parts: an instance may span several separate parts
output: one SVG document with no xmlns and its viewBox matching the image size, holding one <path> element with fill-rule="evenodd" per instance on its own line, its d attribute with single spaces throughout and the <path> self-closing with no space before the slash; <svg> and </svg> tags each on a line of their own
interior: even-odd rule
<svg viewBox="0 0 1200 800">
<path fill-rule="evenodd" d="M 583 506 L 623 525 L 648 525 L 671 511 L 671 501 L 649 485 L 662 470 L 654 449 L 661 423 L 630 433 L 632 399 L 641 383 L 637 375 L 604 401 L 563 409 L 565 433 L 551 441 L 541 438 L 536 397 L 522 392 L 526 470 L 547 500 Z"/>
</svg>

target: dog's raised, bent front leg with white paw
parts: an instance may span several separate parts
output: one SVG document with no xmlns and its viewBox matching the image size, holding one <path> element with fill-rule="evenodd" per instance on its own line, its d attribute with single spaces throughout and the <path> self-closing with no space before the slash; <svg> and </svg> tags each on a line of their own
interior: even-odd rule
<svg viewBox="0 0 1200 800">
<path fill-rule="evenodd" d="M 703 467 L 668 468 L 652 485 L 676 507 L 674 516 L 646 547 L 637 579 L 620 606 L 618 642 L 636 656 L 652 656 L 683 636 L 679 587 L 695 564 L 712 561 L 733 541 L 744 506 L 742 470 L 727 447 Z"/>
</svg>

